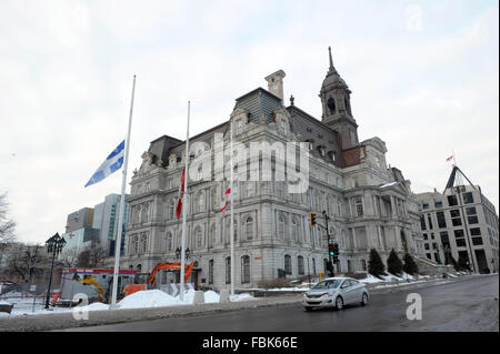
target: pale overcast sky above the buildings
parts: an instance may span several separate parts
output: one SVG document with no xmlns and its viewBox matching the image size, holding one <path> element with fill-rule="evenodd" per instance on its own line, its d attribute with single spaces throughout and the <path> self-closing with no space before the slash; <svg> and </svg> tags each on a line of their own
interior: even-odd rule
<svg viewBox="0 0 500 354">
<path fill-rule="evenodd" d="M 133 74 L 129 182 L 150 141 L 184 139 L 188 100 L 197 134 L 279 69 L 284 97 L 320 119 L 331 45 L 361 141 L 382 139 L 413 192 L 442 192 L 453 149 L 498 211 L 498 11 L 496 0 L 2 0 L 0 193 L 20 240 L 44 242 L 120 193 L 120 172 L 83 185 L 126 135 Z"/>
</svg>

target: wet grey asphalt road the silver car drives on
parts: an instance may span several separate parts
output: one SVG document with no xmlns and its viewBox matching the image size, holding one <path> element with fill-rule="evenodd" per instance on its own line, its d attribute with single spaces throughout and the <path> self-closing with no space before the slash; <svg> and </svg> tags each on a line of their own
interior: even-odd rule
<svg viewBox="0 0 500 354">
<path fill-rule="evenodd" d="M 410 321 L 410 293 L 422 300 L 422 318 Z M 461 282 L 373 294 L 368 306 L 304 312 L 300 304 L 231 311 L 152 321 L 79 327 L 103 332 L 386 332 L 499 331 L 499 277 L 474 276 Z"/>
</svg>

